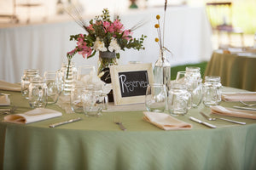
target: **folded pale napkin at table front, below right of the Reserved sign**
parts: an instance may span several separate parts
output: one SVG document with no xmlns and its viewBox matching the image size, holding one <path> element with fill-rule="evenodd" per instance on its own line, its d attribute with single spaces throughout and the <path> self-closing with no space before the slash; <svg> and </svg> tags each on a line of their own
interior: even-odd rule
<svg viewBox="0 0 256 170">
<path fill-rule="evenodd" d="M 182 122 L 171 115 L 150 111 L 143 112 L 143 120 L 154 124 L 164 130 L 191 129 L 192 125 Z"/>
</svg>

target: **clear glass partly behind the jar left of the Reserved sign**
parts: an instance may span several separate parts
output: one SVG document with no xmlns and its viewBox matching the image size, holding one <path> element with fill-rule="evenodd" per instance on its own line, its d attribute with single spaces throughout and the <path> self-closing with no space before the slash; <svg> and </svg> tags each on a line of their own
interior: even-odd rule
<svg viewBox="0 0 256 170">
<path fill-rule="evenodd" d="M 70 105 L 72 111 L 76 113 L 83 113 L 83 95 L 85 87 L 83 85 L 73 85 L 70 94 Z"/>
</svg>

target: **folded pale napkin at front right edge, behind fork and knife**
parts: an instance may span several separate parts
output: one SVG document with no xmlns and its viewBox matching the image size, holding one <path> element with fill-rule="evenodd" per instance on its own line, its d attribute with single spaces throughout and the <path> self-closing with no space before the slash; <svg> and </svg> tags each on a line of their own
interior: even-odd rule
<svg viewBox="0 0 256 170">
<path fill-rule="evenodd" d="M 212 114 L 223 116 L 236 116 L 242 118 L 256 119 L 256 111 L 244 111 L 233 108 L 227 108 L 220 105 L 211 106 Z"/>
</svg>

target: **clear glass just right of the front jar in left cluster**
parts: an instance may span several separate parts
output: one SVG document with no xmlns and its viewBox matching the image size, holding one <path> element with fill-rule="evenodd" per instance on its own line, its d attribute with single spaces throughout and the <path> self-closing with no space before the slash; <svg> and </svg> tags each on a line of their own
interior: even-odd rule
<svg viewBox="0 0 256 170">
<path fill-rule="evenodd" d="M 58 79 L 56 71 L 45 71 L 44 79 L 47 85 L 47 104 L 55 104 L 61 94 L 61 89 L 58 87 Z"/>
</svg>

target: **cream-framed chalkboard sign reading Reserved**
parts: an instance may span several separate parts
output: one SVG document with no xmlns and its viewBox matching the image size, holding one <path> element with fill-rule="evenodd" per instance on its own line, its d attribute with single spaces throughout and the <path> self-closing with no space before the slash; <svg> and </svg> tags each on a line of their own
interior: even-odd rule
<svg viewBox="0 0 256 170">
<path fill-rule="evenodd" d="M 114 105 L 145 102 L 148 84 L 153 82 L 151 64 L 112 65 L 110 75 Z"/>
</svg>

